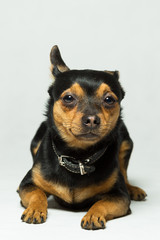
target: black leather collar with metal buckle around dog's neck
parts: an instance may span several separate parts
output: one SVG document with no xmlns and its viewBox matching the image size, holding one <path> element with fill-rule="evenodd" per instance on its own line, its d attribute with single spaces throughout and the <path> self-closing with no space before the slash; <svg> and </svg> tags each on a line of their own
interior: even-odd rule
<svg viewBox="0 0 160 240">
<path fill-rule="evenodd" d="M 66 168 L 69 172 L 72 172 L 72 173 L 89 175 L 90 173 L 95 171 L 95 166 L 93 165 L 93 163 L 95 163 L 99 158 L 103 156 L 108 146 L 105 148 L 102 148 L 101 150 L 99 150 L 92 156 L 88 157 L 87 159 L 84 159 L 83 163 L 82 163 L 82 160 L 78 160 L 77 158 L 59 154 L 53 140 L 52 140 L 52 148 L 58 158 L 60 166 Z"/>
</svg>

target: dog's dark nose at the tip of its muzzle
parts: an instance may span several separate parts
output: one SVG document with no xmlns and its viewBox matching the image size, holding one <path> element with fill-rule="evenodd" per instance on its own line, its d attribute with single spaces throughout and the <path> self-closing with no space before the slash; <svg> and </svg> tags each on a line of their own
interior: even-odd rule
<svg viewBox="0 0 160 240">
<path fill-rule="evenodd" d="M 93 129 L 100 125 L 100 118 L 97 115 L 85 115 L 82 117 L 82 123 L 85 127 Z"/>
</svg>

